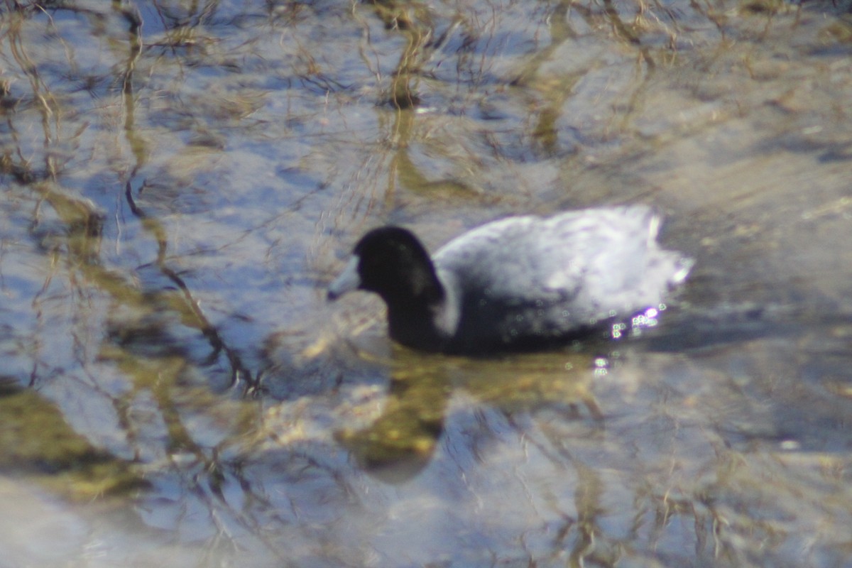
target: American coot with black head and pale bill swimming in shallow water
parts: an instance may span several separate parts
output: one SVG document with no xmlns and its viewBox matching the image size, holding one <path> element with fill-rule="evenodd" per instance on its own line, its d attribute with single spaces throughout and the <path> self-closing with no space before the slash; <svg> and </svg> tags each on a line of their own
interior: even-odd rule
<svg viewBox="0 0 852 568">
<path fill-rule="evenodd" d="M 658 307 L 692 261 L 659 248 L 644 206 L 509 217 L 453 239 L 430 259 L 412 232 L 380 227 L 355 245 L 328 290 L 380 295 L 390 336 L 446 353 L 529 350 Z"/>
</svg>

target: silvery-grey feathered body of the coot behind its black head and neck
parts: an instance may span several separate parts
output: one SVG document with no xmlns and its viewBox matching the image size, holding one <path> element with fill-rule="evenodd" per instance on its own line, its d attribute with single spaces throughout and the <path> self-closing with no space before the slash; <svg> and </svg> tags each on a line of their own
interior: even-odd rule
<svg viewBox="0 0 852 568">
<path fill-rule="evenodd" d="M 691 265 L 659 248 L 658 224 L 647 207 L 585 209 L 452 240 L 434 260 L 458 296 L 459 348 L 557 340 L 658 305 Z"/>
</svg>

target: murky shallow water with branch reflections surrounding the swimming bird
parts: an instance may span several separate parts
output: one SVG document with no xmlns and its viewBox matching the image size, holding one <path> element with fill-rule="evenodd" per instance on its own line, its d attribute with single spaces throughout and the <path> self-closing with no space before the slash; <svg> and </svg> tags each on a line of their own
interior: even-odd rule
<svg viewBox="0 0 852 568">
<path fill-rule="evenodd" d="M 852 5 L 14 6 L 0 565 L 849 565 Z M 697 260 L 629 341 L 323 301 L 367 227 L 621 203 Z"/>
</svg>

